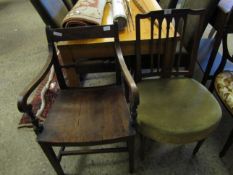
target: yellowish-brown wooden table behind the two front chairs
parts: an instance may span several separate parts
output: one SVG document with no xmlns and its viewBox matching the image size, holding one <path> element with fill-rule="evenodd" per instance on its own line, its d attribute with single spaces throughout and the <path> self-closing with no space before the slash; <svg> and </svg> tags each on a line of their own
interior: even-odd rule
<svg viewBox="0 0 233 175">
<path fill-rule="evenodd" d="M 149 11 L 154 10 L 161 10 L 161 7 L 155 0 L 143 0 L 144 7 L 148 9 Z M 130 1 L 130 6 L 132 10 L 132 16 L 133 16 L 133 23 L 135 24 L 135 16 L 138 13 L 141 13 L 139 9 L 135 6 L 135 4 Z M 142 40 L 143 40 L 143 46 L 145 48 L 142 48 L 143 53 L 149 53 L 149 35 L 150 35 L 150 21 L 148 19 L 145 19 L 142 21 L 144 24 L 141 29 L 142 31 Z M 102 20 L 102 24 L 112 24 L 112 13 L 111 13 L 111 4 L 107 3 L 104 9 L 104 16 Z M 158 29 L 155 27 L 155 36 L 154 38 L 158 38 Z M 165 38 L 166 34 L 162 33 L 162 38 Z M 121 48 L 123 51 L 124 56 L 129 55 L 135 55 L 135 40 L 136 40 L 136 34 L 135 34 L 135 27 L 133 28 L 132 25 L 129 29 L 129 27 L 126 27 L 124 30 L 120 31 L 119 34 L 120 37 L 120 43 Z M 96 58 L 96 57 L 112 57 L 114 56 L 114 50 L 112 47 L 113 40 L 112 39 L 91 39 L 91 40 L 85 40 L 85 41 L 69 41 L 69 42 L 60 42 L 58 43 L 58 49 L 60 50 L 60 54 L 62 57 L 62 62 L 64 64 L 70 64 L 73 63 L 74 60 L 78 58 Z M 78 85 L 78 77 L 77 74 L 73 69 L 67 70 L 67 78 L 69 81 L 70 86 L 76 86 Z"/>
</svg>

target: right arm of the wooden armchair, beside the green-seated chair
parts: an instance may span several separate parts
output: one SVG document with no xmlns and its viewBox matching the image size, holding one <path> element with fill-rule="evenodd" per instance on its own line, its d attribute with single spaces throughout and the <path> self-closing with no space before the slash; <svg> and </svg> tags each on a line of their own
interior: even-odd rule
<svg viewBox="0 0 233 175">
<path fill-rule="evenodd" d="M 125 79 L 125 82 L 127 86 L 129 87 L 130 92 L 130 112 L 133 119 L 133 125 L 136 124 L 136 117 L 137 117 L 137 106 L 139 104 L 139 92 L 136 83 L 134 82 L 126 64 L 124 61 L 124 57 L 119 45 L 119 42 L 115 42 L 115 50 L 116 50 L 116 56 L 117 61 L 119 63 L 120 70 L 122 72 L 122 75 Z"/>
</svg>

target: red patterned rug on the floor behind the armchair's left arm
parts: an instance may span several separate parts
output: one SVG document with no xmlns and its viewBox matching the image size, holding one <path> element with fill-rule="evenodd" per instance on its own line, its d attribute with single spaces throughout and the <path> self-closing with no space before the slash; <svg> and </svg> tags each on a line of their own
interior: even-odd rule
<svg viewBox="0 0 233 175">
<path fill-rule="evenodd" d="M 45 78 L 40 85 L 38 86 L 38 88 L 35 91 L 35 95 L 31 101 L 31 104 L 33 106 L 33 112 L 34 114 L 36 114 L 36 112 L 38 111 L 38 109 L 41 106 L 41 91 L 43 89 L 43 87 L 46 85 L 48 78 Z M 49 109 L 51 108 L 51 105 L 53 104 L 56 96 L 57 96 L 57 92 L 59 91 L 59 86 L 58 83 L 56 81 L 56 78 L 54 77 L 49 89 L 45 92 L 44 98 L 45 98 L 45 108 L 43 110 L 43 112 L 41 113 L 39 120 L 40 122 L 43 122 L 48 114 Z M 24 127 L 32 127 L 32 123 L 31 123 L 31 119 L 27 114 L 23 114 L 23 116 L 20 119 L 18 128 L 24 128 Z"/>
</svg>

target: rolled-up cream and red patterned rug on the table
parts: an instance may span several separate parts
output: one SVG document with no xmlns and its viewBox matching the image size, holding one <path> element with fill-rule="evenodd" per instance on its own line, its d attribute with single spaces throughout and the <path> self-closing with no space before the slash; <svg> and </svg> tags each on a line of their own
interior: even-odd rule
<svg viewBox="0 0 233 175">
<path fill-rule="evenodd" d="M 63 27 L 101 25 L 106 0 L 79 0 L 63 20 Z"/>
</svg>

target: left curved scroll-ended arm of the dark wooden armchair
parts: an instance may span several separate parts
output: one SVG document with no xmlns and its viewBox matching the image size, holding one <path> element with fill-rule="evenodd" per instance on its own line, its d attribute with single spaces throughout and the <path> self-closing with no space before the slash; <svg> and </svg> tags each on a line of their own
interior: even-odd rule
<svg viewBox="0 0 233 175">
<path fill-rule="evenodd" d="M 36 87 L 40 84 L 40 82 L 45 78 L 50 68 L 52 67 L 52 58 L 53 58 L 53 49 L 52 46 L 49 46 L 49 55 L 47 61 L 42 68 L 42 70 L 38 73 L 36 78 L 34 78 L 31 83 L 20 93 L 18 97 L 17 107 L 20 112 L 30 113 L 32 106 L 27 103 L 28 97 L 31 93 L 36 89 Z"/>
</svg>

